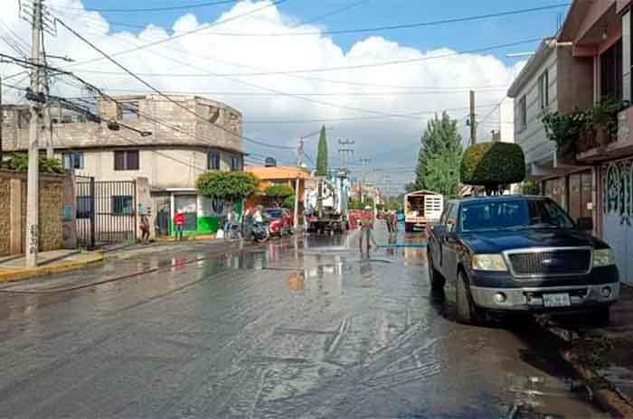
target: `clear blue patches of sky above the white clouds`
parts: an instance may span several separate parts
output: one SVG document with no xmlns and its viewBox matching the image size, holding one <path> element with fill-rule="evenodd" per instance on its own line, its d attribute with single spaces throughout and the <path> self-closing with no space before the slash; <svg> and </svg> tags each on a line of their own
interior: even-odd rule
<svg viewBox="0 0 633 419">
<path fill-rule="evenodd" d="M 143 8 L 170 5 L 193 5 L 208 3 L 204 0 L 85 0 L 87 8 Z M 297 17 L 301 22 L 327 14 L 330 11 L 355 3 L 354 0 L 288 0 L 279 5 L 283 14 Z M 477 14 L 495 14 L 515 9 L 528 9 L 549 5 L 564 5 L 562 1 L 552 0 L 365 0 L 360 5 L 341 13 L 327 16 L 318 21 L 318 25 L 326 29 L 363 28 L 398 23 L 416 23 L 437 21 L 453 17 Z M 145 25 L 155 23 L 163 27 L 171 27 L 175 20 L 185 13 L 193 13 L 201 22 L 214 21 L 222 12 L 231 7 L 212 5 L 153 13 L 102 13 L 108 20 L 121 23 Z M 448 23 L 424 28 L 382 31 L 374 33 L 335 34 L 334 42 L 348 50 L 354 42 L 366 38 L 369 34 L 381 35 L 404 46 L 420 50 L 449 47 L 456 50 L 470 50 L 481 46 L 495 45 L 524 39 L 538 38 L 555 32 L 558 14 L 566 12 L 567 7 L 543 10 L 529 14 L 502 16 L 467 23 Z M 132 29 L 134 32 L 135 30 Z M 515 51 L 529 51 L 529 46 L 516 47 Z M 507 62 L 505 53 L 496 54 Z"/>
</svg>

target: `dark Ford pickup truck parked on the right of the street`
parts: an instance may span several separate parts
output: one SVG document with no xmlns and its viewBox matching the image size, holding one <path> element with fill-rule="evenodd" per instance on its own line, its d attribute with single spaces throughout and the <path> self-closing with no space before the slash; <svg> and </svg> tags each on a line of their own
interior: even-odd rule
<svg viewBox="0 0 633 419">
<path fill-rule="evenodd" d="M 456 284 L 466 323 L 485 322 L 489 312 L 584 312 L 609 321 L 618 268 L 591 229 L 591 219 L 574 223 L 545 197 L 451 200 L 428 228 L 430 284 Z"/>
</svg>

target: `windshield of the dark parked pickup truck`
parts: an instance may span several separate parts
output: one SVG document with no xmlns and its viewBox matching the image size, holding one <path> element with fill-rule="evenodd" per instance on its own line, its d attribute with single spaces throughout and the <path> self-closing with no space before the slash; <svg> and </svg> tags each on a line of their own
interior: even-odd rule
<svg viewBox="0 0 633 419">
<path fill-rule="evenodd" d="M 463 204 L 459 217 L 462 232 L 573 228 L 572 219 L 551 200 L 490 200 Z"/>
</svg>

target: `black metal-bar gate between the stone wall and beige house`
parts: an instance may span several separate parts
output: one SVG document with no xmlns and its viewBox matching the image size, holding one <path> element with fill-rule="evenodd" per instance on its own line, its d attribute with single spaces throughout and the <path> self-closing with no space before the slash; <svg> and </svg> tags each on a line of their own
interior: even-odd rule
<svg viewBox="0 0 633 419">
<path fill-rule="evenodd" d="M 94 248 L 137 239 L 137 188 L 133 181 L 75 177 L 77 240 Z"/>
</svg>

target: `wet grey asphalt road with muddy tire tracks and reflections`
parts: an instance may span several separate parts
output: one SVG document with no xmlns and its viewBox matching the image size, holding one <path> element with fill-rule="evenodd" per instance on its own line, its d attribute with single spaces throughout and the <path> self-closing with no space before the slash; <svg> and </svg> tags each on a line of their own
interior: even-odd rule
<svg viewBox="0 0 633 419">
<path fill-rule="evenodd" d="M 356 245 L 355 233 L 284 238 L 195 263 L 203 244 L 156 247 L 12 284 L 171 266 L 66 293 L 0 293 L 0 417 L 607 417 L 570 389 L 529 319 L 458 324 L 453 290 L 430 293 L 424 248 L 368 256 Z"/>
</svg>

